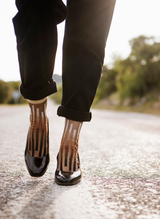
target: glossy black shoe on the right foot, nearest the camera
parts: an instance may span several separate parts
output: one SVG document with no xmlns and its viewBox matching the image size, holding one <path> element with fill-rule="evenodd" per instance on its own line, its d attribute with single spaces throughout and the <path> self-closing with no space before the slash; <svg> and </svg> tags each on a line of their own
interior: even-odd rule
<svg viewBox="0 0 160 219">
<path fill-rule="evenodd" d="M 57 169 L 55 171 L 55 182 L 58 185 L 71 186 L 81 181 L 82 171 L 80 169 L 79 155 L 77 156 L 77 159 L 78 159 L 78 168 L 76 168 L 76 163 L 74 163 L 74 170 L 71 172 L 65 172 L 62 170 L 62 156 L 61 156 L 61 164 L 59 164 L 59 155 L 57 156 Z M 60 165 L 60 169 L 58 169 L 59 165 Z"/>
</svg>

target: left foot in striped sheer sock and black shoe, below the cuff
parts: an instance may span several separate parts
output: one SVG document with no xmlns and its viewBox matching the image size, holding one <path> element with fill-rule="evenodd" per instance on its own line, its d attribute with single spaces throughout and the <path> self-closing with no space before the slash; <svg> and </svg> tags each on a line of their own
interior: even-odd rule
<svg viewBox="0 0 160 219">
<path fill-rule="evenodd" d="M 49 164 L 49 122 L 47 100 L 31 103 L 30 127 L 25 150 L 25 162 L 31 176 L 42 176 Z"/>
</svg>

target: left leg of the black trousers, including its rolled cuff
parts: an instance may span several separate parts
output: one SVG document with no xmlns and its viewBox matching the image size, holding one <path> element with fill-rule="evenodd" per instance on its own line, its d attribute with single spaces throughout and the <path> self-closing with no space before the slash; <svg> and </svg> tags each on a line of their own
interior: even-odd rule
<svg viewBox="0 0 160 219">
<path fill-rule="evenodd" d="M 57 9 L 56 2 L 16 1 L 19 11 L 13 24 L 22 81 L 20 91 L 27 99 L 43 99 L 57 91 L 52 79 L 57 49 L 56 25 L 67 16 L 67 8 L 59 1 Z M 63 16 L 57 12 L 60 9 Z"/>
</svg>

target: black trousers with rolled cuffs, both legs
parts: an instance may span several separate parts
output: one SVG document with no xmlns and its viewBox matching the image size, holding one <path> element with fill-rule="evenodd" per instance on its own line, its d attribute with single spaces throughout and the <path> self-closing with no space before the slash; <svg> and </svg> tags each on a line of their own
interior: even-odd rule
<svg viewBox="0 0 160 219">
<path fill-rule="evenodd" d="M 13 18 L 24 98 L 55 93 L 52 79 L 57 24 L 66 17 L 63 43 L 63 97 L 57 114 L 90 121 L 116 0 L 16 0 Z"/>
</svg>

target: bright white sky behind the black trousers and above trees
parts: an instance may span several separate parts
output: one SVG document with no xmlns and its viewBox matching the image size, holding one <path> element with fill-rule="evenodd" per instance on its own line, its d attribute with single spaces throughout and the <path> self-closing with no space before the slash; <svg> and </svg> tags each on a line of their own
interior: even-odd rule
<svg viewBox="0 0 160 219">
<path fill-rule="evenodd" d="M 107 0 L 106 0 L 107 1 Z M 65 1 L 64 1 L 65 2 Z M 130 53 L 129 40 L 139 35 L 160 38 L 160 0 L 117 0 L 105 48 L 104 64 L 113 57 L 126 58 Z M 20 80 L 12 18 L 17 13 L 15 0 L 0 0 L 0 79 Z M 62 74 L 62 42 L 64 24 L 58 25 L 58 49 L 54 73 Z"/>
</svg>

